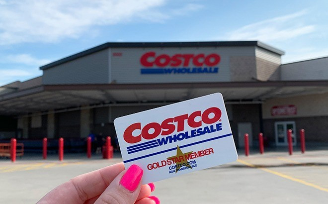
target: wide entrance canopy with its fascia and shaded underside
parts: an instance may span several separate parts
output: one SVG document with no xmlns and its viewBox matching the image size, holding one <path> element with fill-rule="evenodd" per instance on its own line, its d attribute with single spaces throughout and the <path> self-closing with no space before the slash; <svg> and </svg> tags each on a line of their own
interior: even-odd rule
<svg viewBox="0 0 328 204">
<path fill-rule="evenodd" d="M 0 96 L 0 115 L 67 111 L 82 106 L 166 104 L 212 93 L 227 104 L 328 93 L 328 81 L 40 85 Z"/>
</svg>

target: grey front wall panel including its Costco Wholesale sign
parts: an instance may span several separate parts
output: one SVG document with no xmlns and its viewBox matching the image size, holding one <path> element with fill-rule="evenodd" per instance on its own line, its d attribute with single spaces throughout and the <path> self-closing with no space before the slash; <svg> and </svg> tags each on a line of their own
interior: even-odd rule
<svg viewBox="0 0 328 204">
<path fill-rule="evenodd" d="M 236 59 L 255 59 L 254 47 L 130 47 L 109 53 L 110 82 L 128 84 L 230 82 Z"/>
</svg>

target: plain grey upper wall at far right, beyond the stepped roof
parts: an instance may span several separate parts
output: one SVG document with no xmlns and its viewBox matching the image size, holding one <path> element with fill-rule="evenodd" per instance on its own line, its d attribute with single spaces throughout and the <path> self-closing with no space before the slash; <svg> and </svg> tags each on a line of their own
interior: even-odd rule
<svg viewBox="0 0 328 204">
<path fill-rule="evenodd" d="M 328 80 L 328 57 L 281 65 L 281 80 Z"/>
</svg>

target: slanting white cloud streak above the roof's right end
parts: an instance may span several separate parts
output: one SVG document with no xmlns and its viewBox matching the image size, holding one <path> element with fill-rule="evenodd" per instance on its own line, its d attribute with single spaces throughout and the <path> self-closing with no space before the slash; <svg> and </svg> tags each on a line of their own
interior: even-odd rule
<svg viewBox="0 0 328 204">
<path fill-rule="evenodd" d="M 300 18 L 307 14 L 307 10 L 301 10 L 292 14 L 279 16 L 256 23 L 248 24 L 237 30 L 229 32 L 229 40 L 261 40 L 284 41 L 300 35 L 315 31 L 315 25 L 300 23 Z"/>
</svg>

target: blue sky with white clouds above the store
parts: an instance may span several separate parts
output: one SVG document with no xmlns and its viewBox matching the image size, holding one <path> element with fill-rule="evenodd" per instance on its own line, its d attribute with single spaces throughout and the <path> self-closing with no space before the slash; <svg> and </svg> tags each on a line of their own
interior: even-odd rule
<svg viewBox="0 0 328 204">
<path fill-rule="evenodd" d="M 0 0 L 0 86 L 105 42 L 259 40 L 328 56 L 327 0 Z"/>
</svg>

